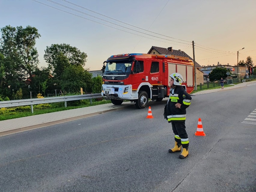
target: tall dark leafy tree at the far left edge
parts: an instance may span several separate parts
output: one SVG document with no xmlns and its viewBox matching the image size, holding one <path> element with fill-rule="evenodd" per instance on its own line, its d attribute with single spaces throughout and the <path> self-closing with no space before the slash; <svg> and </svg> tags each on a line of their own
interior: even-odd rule
<svg viewBox="0 0 256 192">
<path fill-rule="evenodd" d="M 0 52 L 4 56 L 1 66 L 4 77 L 0 77 L 0 91 L 11 98 L 22 88 L 23 95 L 28 92 L 26 79 L 32 77 L 38 65 L 38 52 L 35 48 L 36 39 L 41 35 L 35 27 L 10 25 L 1 28 Z M 2 68 L 2 67 L 1 67 Z M 30 83 L 30 85 L 33 82 Z"/>
</svg>

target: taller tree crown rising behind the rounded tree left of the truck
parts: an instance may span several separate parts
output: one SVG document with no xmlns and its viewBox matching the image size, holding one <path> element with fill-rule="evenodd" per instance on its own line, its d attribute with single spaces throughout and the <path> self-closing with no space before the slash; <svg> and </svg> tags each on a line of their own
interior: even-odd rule
<svg viewBox="0 0 256 192">
<path fill-rule="evenodd" d="M 69 65 L 84 66 L 87 58 L 86 53 L 65 43 L 46 46 L 44 52 L 44 59 L 56 75 L 62 72 L 60 70 L 62 66 L 63 68 Z"/>
</svg>

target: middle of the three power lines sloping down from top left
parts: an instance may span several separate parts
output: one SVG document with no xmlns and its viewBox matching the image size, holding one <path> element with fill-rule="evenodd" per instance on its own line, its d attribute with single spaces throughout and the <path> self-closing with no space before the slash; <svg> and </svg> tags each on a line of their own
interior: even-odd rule
<svg viewBox="0 0 256 192">
<path fill-rule="evenodd" d="M 32 0 L 32 1 L 35 1 L 35 0 Z M 154 35 L 150 35 L 150 34 L 147 34 L 147 33 L 144 33 L 144 32 L 140 32 L 140 31 L 137 31 L 137 30 L 135 30 L 135 29 L 130 29 L 130 28 L 128 28 L 128 27 L 121 26 L 121 25 L 118 25 L 118 24 L 116 24 L 116 23 L 112 23 L 112 22 L 110 22 L 110 21 L 107 21 L 107 20 L 101 19 L 101 18 L 99 18 L 99 17 L 95 17 L 95 16 L 93 16 L 93 15 L 90 15 L 90 14 L 84 13 L 84 12 L 82 12 L 82 11 L 78 11 L 78 10 L 76 10 L 76 9 L 70 8 L 70 7 L 66 6 L 66 5 L 62 5 L 62 4 L 59 4 L 59 3 L 54 2 L 54 1 L 51 1 L 51 0 L 47 0 L 47 1 L 52 2 L 52 3 L 55 3 L 55 4 L 60 5 L 60 6 L 62 6 L 62 7 L 65 7 L 65 8 L 71 9 L 71 10 L 73 10 L 73 11 L 77 11 L 77 12 L 79 12 L 79 13 L 82 13 L 82 14 L 88 15 L 88 16 L 90 16 L 90 17 L 93 17 L 93 18 L 96 18 L 96 19 L 99 19 L 99 20 L 105 21 L 105 22 L 107 22 L 107 23 L 111 23 L 111 24 L 113 24 L 113 25 L 117 25 L 117 26 L 119 26 L 119 27 L 123 27 L 123 28 L 125 28 L 125 29 L 129 29 L 129 30 L 132 30 L 132 31 L 135 31 L 135 32 L 139 32 L 139 33 L 142 33 L 142 34 L 145 34 L 145 35 L 149 35 L 149 36 L 152 36 L 152 37 L 156 37 L 156 38 L 164 39 L 164 40 L 167 40 L 167 41 L 173 41 L 173 40 L 169 40 L 169 39 L 165 39 L 165 38 L 157 37 L 157 36 L 154 36 Z M 38 1 L 35 1 L 35 2 L 38 2 Z M 39 2 L 39 3 L 41 3 L 41 2 Z M 47 4 L 44 4 L 44 3 L 41 3 L 41 4 L 43 4 L 43 5 L 47 5 Z M 49 6 L 49 5 L 47 5 L 47 6 Z M 49 7 L 52 7 L 52 6 L 49 6 Z M 54 8 L 54 7 L 52 7 L 52 8 Z M 58 9 L 58 10 L 59 10 L 59 9 Z M 182 43 L 182 42 L 178 42 L 178 41 L 173 41 L 173 42 L 181 43 L 181 44 L 187 44 L 187 43 Z"/>
</svg>

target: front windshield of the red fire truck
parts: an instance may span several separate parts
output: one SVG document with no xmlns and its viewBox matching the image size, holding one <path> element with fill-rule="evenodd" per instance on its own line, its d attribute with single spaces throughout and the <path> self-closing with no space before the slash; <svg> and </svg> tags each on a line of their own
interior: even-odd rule
<svg viewBox="0 0 256 192">
<path fill-rule="evenodd" d="M 107 62 L 105 72 L 111 72 L 111 74 L 114 73 L 130 73 L 132 68 L 133 62 Z"/>
</svg>

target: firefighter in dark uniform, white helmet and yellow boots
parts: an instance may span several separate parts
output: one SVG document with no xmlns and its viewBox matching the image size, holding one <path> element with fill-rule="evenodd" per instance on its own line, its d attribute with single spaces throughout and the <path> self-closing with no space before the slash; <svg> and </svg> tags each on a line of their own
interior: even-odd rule
<svg viewBox="0 0 256 192">
<path fill-rule="evenodd" d="M 175 145 L 174 148 L 169 149 L 169 153 L 181 152 L 179 158 L 184 159 L 188 156 L 188 136 L 186 132 L 186 108 L 191 103 L 191 96 L 181 86 L 183 78 L 179 73 L 172 73 L 169 75 L 171 92 L 168 102 L 165 107 L 165 118 L 169 123 L 172 123 L 172 130 L 174 133 Z"/>
</svg>

